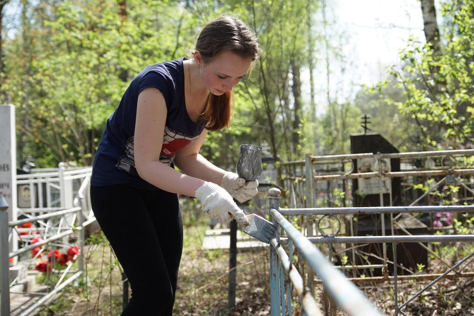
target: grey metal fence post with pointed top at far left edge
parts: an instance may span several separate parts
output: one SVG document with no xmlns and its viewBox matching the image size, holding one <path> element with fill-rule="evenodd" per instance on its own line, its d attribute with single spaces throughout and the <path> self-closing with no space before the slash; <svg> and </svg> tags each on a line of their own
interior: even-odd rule
<svg viewBox="0 0 474 316">
<path fill-rule="evenodd" d="M 0 315 L 10 315 L 10 276 L 8 246 L 8 203 L 0 195 Z"/>
</svg>

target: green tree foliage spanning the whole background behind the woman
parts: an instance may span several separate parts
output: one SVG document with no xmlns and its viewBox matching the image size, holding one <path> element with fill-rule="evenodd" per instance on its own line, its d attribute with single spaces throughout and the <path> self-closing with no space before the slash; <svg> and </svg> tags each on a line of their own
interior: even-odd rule
<svg viewBox="0 0 474 316">
<path fill-rule="evenodd" d="M 401 151 L 471 141 L 472 2 L 443 4 L 443 54 L 410 38 L 401 52 L 402 68 L 392 67 L 387 80 L 363 86 L 355 100 L 328 94 L 328 111 L 317 119 L 313 105 L 302 101 L 296 79 L 311 67 L 319 47 L 326 47 L 343 74 L 347 62 L 344 35 L 330 34 L 335 40 L 328 42 L 323 29 L 333 21 L 308 26 L 323 10 L 319 2 L 308 4 L 128 0 L 123 15 L 115 0 L 20 1 L 19 25 L 2 43 L 0 87 L 2 102 L 17 106 L 18 164 L 31 155 L 37 167 L 60 161 L 90 165 L 129 81 L 146 65 L 186 55 L 200 28 L 225 12 L 255 30 L 261 57 L 234 89 L 231 129 L 210 133 L 202 147 L 218 166 L 234 169 L 238 145 L 248 143 L 268 144 L 266 153 L 281 160 L 298 160 L 317 149 L 347 153 L 349 135 L 362 131 L 363 114 Z"/>
</svg>

